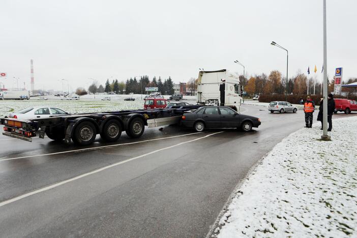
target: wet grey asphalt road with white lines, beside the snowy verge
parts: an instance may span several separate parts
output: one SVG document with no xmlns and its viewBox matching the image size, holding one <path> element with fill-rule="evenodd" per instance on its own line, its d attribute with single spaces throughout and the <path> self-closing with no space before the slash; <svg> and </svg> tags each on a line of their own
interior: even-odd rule
<svg viewBox="0 0 357 238">
<path fill-rule="evenodd" d="M 242 111 L 262 125 L 250 133 L 167 126 L 111 144 L 98 136 L 87 147 L 0 136 L 0 236 L 205 236 L 249 169 L 305 125 L 302 111 Z"/>
</svg>

